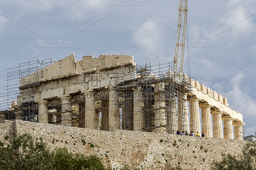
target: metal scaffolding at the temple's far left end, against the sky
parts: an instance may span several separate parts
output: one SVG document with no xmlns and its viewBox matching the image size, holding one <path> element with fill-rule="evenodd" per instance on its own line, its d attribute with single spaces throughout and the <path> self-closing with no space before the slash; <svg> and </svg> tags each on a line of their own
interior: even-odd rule
<svg viewBox="0 0 256 170">
<path fill-rule="evenodd" d="M 34 102 L 39 78 L 43 78 L 41 68 L 51 64 L 52 59 L 28 60 L 18 66 L 7 69 L 5 93 L 0 94 L 0 122 L 7 120 L 24 120 L 37 122 L 38 107 Z"/>
</svg>

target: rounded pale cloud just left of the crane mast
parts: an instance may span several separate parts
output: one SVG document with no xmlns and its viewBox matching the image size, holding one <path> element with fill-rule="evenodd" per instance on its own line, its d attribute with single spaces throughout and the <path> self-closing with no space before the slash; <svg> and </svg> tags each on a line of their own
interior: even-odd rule
<svg viewBox="0 0 256 170">
<path fill-rule="evenodd" d="M 147 55 L 159 55 L 163 50 L 163 33 L 158 21 L 149 19 L 143 23 L 133 34 L 133 42 Z"/>
</svg>

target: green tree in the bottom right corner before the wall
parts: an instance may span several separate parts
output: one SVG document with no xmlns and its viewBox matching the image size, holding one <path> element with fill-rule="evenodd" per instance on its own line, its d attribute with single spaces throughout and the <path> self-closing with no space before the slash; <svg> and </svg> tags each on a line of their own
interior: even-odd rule
<svg viewBox="0 0 256 170">
<path fill-rule="evenodd" d="M 256 170 L 256 143 L 247 143 L 238 157 L 222 154 L 222 160 L 213 162 L 213 170 Z"/>
</svg>

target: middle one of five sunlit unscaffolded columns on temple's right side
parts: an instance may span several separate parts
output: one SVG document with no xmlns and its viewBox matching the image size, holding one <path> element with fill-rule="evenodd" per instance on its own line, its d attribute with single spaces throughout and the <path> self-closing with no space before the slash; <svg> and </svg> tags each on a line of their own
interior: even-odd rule
<svg viewBox="0 0 256 170">
<path fill-rule="evenodd" d="M 223 138 L 221 111 L 212 111 L 213 137 Z"/>
</svg>

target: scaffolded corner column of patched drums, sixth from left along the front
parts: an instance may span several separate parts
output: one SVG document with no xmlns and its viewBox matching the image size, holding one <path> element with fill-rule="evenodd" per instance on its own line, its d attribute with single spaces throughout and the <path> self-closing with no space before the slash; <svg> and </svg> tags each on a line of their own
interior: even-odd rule
<svg viewBox="0 0 256 170">
<path fill-rule="evenodd" d="M 162 97 L 164 93 L 164 83 L 155 84 L 155 126 L 166 125 L 166 113 L 165 109 L 165 99 Z M 156 133 L 166 133 L 166 128 L 156 128 Z"/>
</svg>

